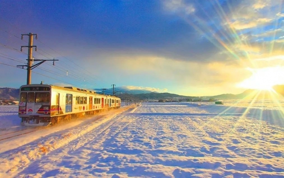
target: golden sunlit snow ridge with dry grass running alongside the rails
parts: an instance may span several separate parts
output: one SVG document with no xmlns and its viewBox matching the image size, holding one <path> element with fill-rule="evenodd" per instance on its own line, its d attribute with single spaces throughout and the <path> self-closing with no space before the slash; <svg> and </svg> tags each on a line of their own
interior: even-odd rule
<svg viewBox="0 0 284 178">
<path fill-rule="evenodd" d="M 57 136 L 58 135 L 57 134 L 57 135 L 52 135 L 51 137 L 48 137 L 47 135 L 42 140 L 45 143 L 36 145 L 36 143 L 34 142 L 35 145 L 33 144 L 29 146 L 28 150 L 18 151 L 15 154 L 5 156 L 5 158 L 1 160 L 0 164 L 4 163 L 4 166 L 5 166 L 4 170 L 7 170 L 7 171 L 0 172 L 0 177 L 2 177 L 1 175 L 3 175 L 3 177 L 5 175 L 16 176 L 19 170 L 23 170 L 22 172 L 24 172 L 27 167 L 29 167 L 30 165 L 33 165 L 36 161 L 40 161 L 39 159 L 42 158 L 44 154 L 49 155 L 49 153 L 51 152 L 54 153 L 54 151 L 62 148 L 64 145 L 70 143 L 71 141 L 76 140 L 81 135 L 85 135 L 86 133 L 92 131 L 93 128 L 96 128 L 99 125 L 104 124 L 108 122 L 109 120 L 112 120 L 113 117 L 116 117 L 119 114 L 118 112 L 122 113 L 122 112 L 132 109 L 133 107 L 135 107 L 135 105 L 127 107 L 127 108 L 122 108 L 121 110 L 114 110 L 113 112 L 110 111 L 108 113 L 105 113 L 103 116 L 99 115 L 97 116 L 99 117 L 99 119 L 96 122 L 91 122 L 89 124 L 81 126 L 80 128 L 72 129 L 67 134 L 59 134 L 59 136 Z M 106 117 L 106 118 L 101 119 L 101 117 Z M 33 147 L 33 149 L 31 149 L 30 147 Z M 40 147 L 43 148 L 43 150 L 41 150 Z M 41 152 L 41 151 L 45 151 L 45 152 Z M 9 164 L 7 164 L 7 162 Z M 18 174 L 18 176 L 19 175 L 20 173 Z"/>
</svg>

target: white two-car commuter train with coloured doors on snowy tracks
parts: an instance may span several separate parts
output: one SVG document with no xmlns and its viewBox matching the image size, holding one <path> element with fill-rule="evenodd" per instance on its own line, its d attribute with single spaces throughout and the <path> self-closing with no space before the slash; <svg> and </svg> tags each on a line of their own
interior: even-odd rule
<svg viewBox="0 0 284 178">
<path fill-rule="evenodd" d="M 119 97 L 72 86 L 29 84 L 20 87 L 19 114 L 23 126 L 48 126 L 74 117 L 120 108 Z"/>
</svg>

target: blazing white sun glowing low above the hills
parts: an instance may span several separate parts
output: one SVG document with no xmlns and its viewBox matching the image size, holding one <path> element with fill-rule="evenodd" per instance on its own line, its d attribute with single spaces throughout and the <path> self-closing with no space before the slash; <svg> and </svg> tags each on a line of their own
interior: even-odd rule
<svg viewBox="0 0 284 178">
<path fill-rule="evenodd" d="M 277 84 L 284 84 L 284 67 L 266 67 L 252 69 L 248 68 L 252 75 L 237 84 L 238 87 L 246 89 L 272 90 Z"/>
</svg>

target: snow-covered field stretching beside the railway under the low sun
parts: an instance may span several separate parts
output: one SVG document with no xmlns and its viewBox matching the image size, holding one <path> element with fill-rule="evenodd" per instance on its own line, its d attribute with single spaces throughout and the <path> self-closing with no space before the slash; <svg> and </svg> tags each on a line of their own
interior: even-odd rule
<svg viewBox="0 0 284 178">
<path fill-rule="evenodd" d="M 142 103 L 0 141 L 0 177 L 284 177 L 284 111 Z M 0 107 L 0 138 L 19 128 Z"/>
</svg>

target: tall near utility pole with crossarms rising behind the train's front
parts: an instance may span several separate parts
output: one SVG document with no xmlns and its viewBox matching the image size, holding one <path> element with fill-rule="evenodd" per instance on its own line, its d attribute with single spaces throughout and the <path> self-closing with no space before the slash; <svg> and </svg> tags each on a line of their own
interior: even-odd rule
<svg viewBox="0 0 284 178">
<path fill-rule="evenodd" d="M 27 65 L 20 65 L 22 68 L 24 67 L 27 67 L 27 85 L 31 84 L 31 78 L 32 78 L 32 69 L 41 65 L 42 63 L 44 63 L 45 61 L 53 61 L 53 65 L 54 65 L 54 61 L 58 61 L 58 60 L 39 60 L 39 59 L 36 59 L 36 60 L 33 60 L 33 47 L 35 47 L 35 51 L 37 51 L 38 49 L 36 48 L 36 46 L 33 46 L 33 35 L 36 35 L 35 36 L 35 39 L 37 40 L 38 39 L 38 35 L 37 34 L 32 34 L 32 33 L 29 33 L 29 34 L 21 34 L 22 37 L 21 39 L 23 40 L 24 39 L 24 35 L 28 35 L 29 36 L 29 45 L 28 46 L 21 46 L 21 51 L 23 51 L 23 47 L 28 47 L 28 63 Z M 41 61 L 40 63 L 37 63 L 35 65 L 32 66 L 32 62 L 33 61 Z"/>
</svg>

